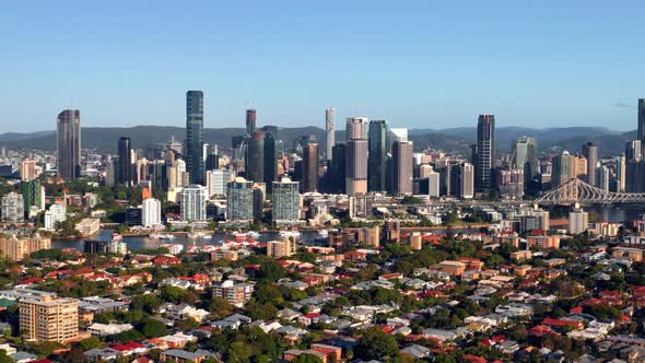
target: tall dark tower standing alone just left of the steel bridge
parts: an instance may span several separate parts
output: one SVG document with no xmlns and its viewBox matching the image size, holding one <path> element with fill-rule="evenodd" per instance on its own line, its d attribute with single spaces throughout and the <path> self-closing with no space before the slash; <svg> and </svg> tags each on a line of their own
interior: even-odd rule
<svg viewBox="0 0 645 363">
<path fill-rule="evenodd" d="M 495 167 L 495 116 L 479 115 L 477 122 L 477 164 L 474 165 L 474 190 L 490 192 L 493 188 L 492 173 Z"/>
</svg>

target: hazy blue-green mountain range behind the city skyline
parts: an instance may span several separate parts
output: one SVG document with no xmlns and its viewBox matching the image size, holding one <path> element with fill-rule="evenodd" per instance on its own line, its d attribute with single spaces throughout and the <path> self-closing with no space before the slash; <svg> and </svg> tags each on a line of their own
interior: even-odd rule
<svg viewBox="0 0 645 363">
<path fill-rule="evenodd" d="M 150 144 L 164 142 L 175 137 L 183 141 L 185 129 L 180 127 L 137 126 L 129 128 L 83 128 L 82 147 L 93 148 L 105 152 L 115 152 L 118 138 L 121 136 L 132 139 L 132 147 L 146 148 Z M 231 138 L 243 134 L 243 128 L 204 129 L 204 142 L 215 143 L 220 148 L 231 147 Z M 279 138 L 290 147 L 301 136 L 316 134 L 319 140 L 325 131 L 318 127 L 279 128 Z M 567 127 L 532 129 L 524 127 L 500 127 L 495 130 L 497 150 L 509 150 L 513 142 L 520 137 L 530 136 L 538 139 L 540 151 L 555 153 L 561 150 L 579 152 L 583 143 L 594 141 L 600 155 L 617 155 L 622 153 L 624 142 L 633 140 L 636 131 L 620 132 L 600 127 Z M 337 140 L 344 140 L 345 132 L 337 131 Z M 450 152 L 467 154 L 469 145 L 477 139 L 474 127 L 449 129 L 411 129 L 410 140 L 414 141 L 414 149 L 442 149 Z M 7 132 L 0 134 L 0 147 L 9 149 L 56 149 L 56 131 L 37 131 L 28 133 Z"/>
</svg>

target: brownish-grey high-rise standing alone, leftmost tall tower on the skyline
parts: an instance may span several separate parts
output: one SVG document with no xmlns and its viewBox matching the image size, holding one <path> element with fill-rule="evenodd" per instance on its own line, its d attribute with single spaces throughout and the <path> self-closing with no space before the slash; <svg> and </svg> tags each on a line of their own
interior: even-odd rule
<svg viewBox="0 0 645 363">
<path fill-rule="evenodd" d="M 58 154 L 56 167 L 63 180 L 81 176 L 81 112 L 66 109 L 58 114 Z"/>
</svg>

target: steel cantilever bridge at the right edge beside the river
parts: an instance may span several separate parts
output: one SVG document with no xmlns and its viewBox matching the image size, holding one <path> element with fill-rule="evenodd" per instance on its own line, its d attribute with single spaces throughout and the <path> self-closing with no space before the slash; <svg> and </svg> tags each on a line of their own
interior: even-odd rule
<svg viewBox="0 0 645 363">
<path fill-rule="evenodd" d="M 645 203 L 645 192 L 613 192 L 596 188 L 578 178 L 570 179 L 533 201 L 538 204 Z"/>
</svg>

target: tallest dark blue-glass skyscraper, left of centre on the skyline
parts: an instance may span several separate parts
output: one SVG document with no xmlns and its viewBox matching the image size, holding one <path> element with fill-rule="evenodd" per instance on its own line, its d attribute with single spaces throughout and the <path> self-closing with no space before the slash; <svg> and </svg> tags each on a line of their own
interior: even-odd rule
<svg viewBox="0 0 645 363">
<path fill-rule="evenodd" d="M 191 184 L 203 184 L 203 92 L 186 92 L 186 165 Z"/>
</svg>

